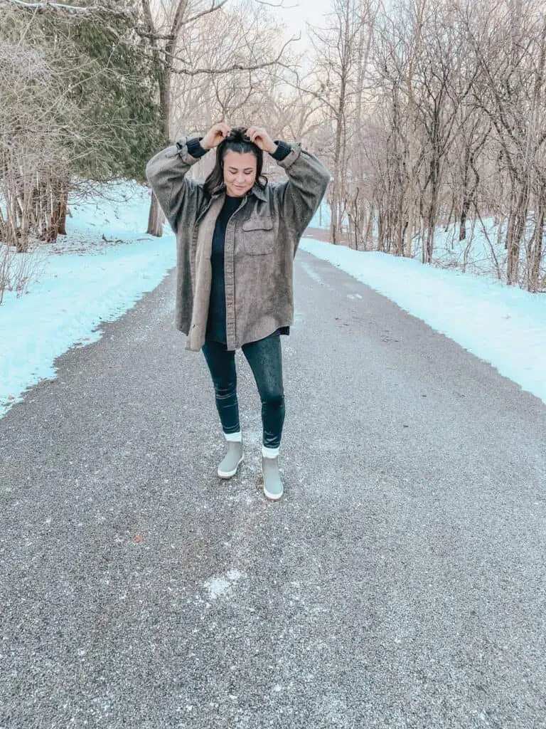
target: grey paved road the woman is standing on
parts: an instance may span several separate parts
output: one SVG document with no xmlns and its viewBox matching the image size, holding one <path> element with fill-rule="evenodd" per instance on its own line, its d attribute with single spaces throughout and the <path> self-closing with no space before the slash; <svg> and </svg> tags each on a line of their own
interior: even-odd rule
<svg viewBox="0 0 546 729">
<path fill-rule="evenodd" d="M 0 421 L 0 727 L 546 727 L 546 406 L 301 252 L 286 496 L 171 273 Z"/>
</svg>

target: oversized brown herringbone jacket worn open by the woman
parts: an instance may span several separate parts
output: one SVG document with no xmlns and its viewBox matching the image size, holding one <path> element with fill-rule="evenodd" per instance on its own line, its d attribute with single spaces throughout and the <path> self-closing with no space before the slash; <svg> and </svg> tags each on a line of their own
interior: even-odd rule
<svg viewBox="0 0 546 729">
<path fill-rule="evenodd" d="M 186 136 L 146 165 L 146 176 L 176 235 L 175 326 L 188 335 L 186 348 L 205 343 L 210 252 L 216 218 L 225 198 L 210 198 L 202 182 L 186 176 L 197 157 Z M 226 227 L 226 343 L 229 350 L 262 339 L 293 323 L 293 257 L 299 239 L 323 199 L 330 173 L 299 144 L 277 162 L 288 179 L 254 185 Z"/>
</svg>

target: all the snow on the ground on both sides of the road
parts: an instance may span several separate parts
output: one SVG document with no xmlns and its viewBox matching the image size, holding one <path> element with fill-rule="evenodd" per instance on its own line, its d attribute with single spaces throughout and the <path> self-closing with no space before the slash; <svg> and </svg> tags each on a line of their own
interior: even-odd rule
<svg viewBox="0 0 546 729">
<path fill-rule="evenodd" d="M 98 340 L 101 321 L 122 316 L 175 265 L 173 234 L 158 239 L 143 233 L 146 188 L 110 185 L 108 198 L 70 208 L 69 235 L 39 249 L 38 280 L 19 297 L 7 292 L 0 305 L 0 417 L 29 386 L 56 376 L 56 357 Z M 328 227 L 327 206 L 312 225 Z M 481 270 L 488 247 L 475 246 L 468 270 Z M 448 234 L 438 237 L 438 263 L 447 268 L 310 238 L 301 249 L 389 297 L 546 402 L 546 297 L 454 270 L 462 247 Z M 483 271 L 489 268 L 483 262 Z"/>
</svg>

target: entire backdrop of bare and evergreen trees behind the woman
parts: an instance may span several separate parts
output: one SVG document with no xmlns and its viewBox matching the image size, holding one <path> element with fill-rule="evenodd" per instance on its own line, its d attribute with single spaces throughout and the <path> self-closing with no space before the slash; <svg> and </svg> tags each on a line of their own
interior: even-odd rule
<svg viewBox="0 0 546 729">
<path fill-rule="evenodd" d="M 466 262 L 492 218 L 497 275 L 545 289 L 542 0 L 331 0 L 304 51 L 256 0 L 0 0 L 0 16 L 0 238 L 17 249 L 63 232 L 68 192 L 142 179 L 177 130 L 223 119 L 325 159 L 333 243 L 430 263 L 454 225 Z"/>
</svg>

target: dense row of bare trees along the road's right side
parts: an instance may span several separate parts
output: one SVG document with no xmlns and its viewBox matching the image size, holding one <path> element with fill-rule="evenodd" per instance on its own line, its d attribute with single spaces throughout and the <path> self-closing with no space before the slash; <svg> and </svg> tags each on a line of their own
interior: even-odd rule
<svg viewBox="0 0 546 729">
<path fill-rule="evenodd" d="M 333 0 L 314 34 L 317 103 L 329 109 L 331 235 L 432 262 L 475 222 L 499 278 L 546 288 L 546 12 L 540 0 Z M 483 225 L 484 230 L 487 226 Z M 502 258 L 502 260 L 501 260 Z"/>
</svg>

